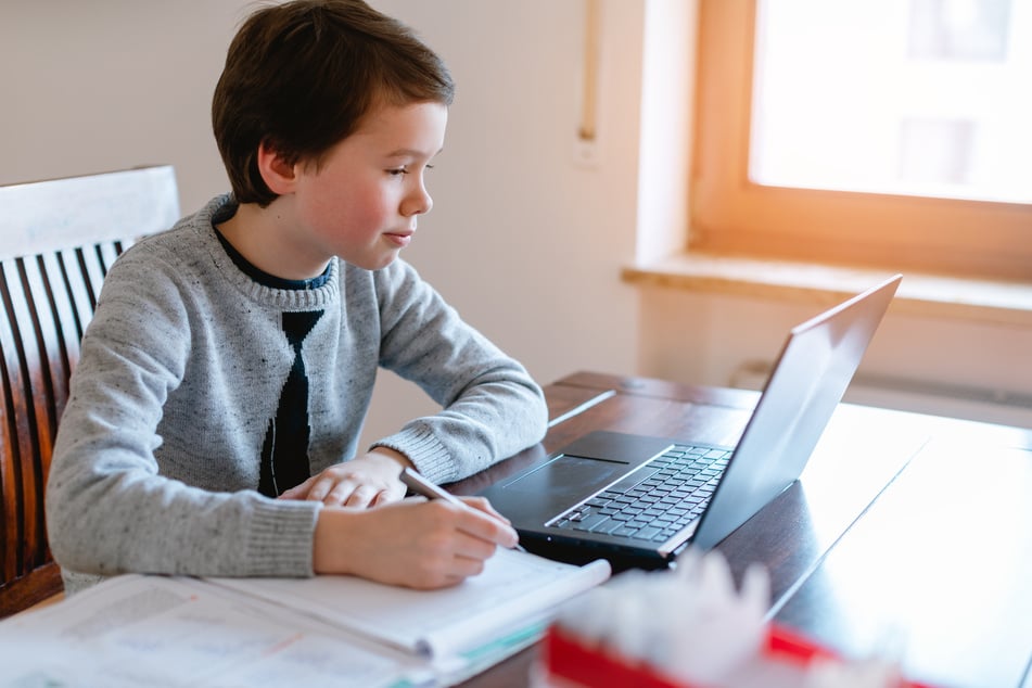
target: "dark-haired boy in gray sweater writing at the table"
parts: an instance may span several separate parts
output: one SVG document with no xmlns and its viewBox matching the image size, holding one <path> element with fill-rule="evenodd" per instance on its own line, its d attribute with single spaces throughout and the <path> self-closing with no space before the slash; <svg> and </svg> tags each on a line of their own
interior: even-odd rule
<svg viewBox="0 0 1032 688">
<path fill-rule="evenodd" d="M 524 368 L 397 259 L 451 95 L 360 0 L 242 25 L 213 101 L 232 194 L 129 249 L 82 341 L 47 495 L 67 590 L 123 572 L 433 588 L 515 545 L 486 501 L 402 500 L 398 481 L 458 480 L 545 432 Z M 356 457 L 378 366 L 444 408 Z"/>
</svg>

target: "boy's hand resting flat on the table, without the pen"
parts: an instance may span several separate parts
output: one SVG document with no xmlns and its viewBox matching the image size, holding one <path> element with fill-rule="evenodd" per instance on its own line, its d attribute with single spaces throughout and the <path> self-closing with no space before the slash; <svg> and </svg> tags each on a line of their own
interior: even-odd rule
<svg viewBox="0 0 1032 688">
<path fill-rule="evenodd" d="M 375 507 L 405 497 L 405 485 L 398 480 L 402 469 L 412 462 L 404 454 L 377 447 L 313 475 L 291 487 L 280 499 L 307 499 L 330 507 Z"/>
</svg>

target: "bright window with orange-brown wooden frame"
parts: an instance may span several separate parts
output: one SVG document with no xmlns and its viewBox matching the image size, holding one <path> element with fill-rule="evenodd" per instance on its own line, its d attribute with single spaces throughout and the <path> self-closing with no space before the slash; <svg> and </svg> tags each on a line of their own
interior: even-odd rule
<svg viewBox="0 0 1032 688">
<path fill-rule="evenodd" d="M 692 250 L 1032 280 L 1032 0 L 700 0 Z"/>
</svg>

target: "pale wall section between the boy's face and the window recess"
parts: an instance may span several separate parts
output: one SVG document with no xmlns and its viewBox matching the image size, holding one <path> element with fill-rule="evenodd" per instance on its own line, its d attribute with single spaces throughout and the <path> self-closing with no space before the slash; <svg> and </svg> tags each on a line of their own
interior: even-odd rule
<svg viewBox="0 0 1032 688">
<path fill-rule="evenodd" d="M 635 251 L 642 4 L 607 0 L 599 164 L 575 156 L 584 2 L 379 0 L 447 62 L 457 84 L 434 209 L 406 257 L 543 382 L 637 362 Z M 419 412 L 390 378 L 370 425 Z M 383 403 L 383 399 L 388 403 Z"/>
</svg>

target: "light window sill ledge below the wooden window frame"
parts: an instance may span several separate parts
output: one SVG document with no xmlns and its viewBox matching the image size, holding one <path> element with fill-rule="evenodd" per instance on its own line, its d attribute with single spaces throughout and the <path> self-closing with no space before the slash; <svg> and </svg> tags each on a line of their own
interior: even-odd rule
<svg viewBox="0 0 1032 688">
<path fill-rule="evenodd" d="M 626 267 L 622 277 L 641 286 L 832 304 L 890 275 L 886 270 L 686 253 Z M 1032 284 L 904 273 L 892 309 L 930 318 L 1032 327 Z"/>
</svg>

